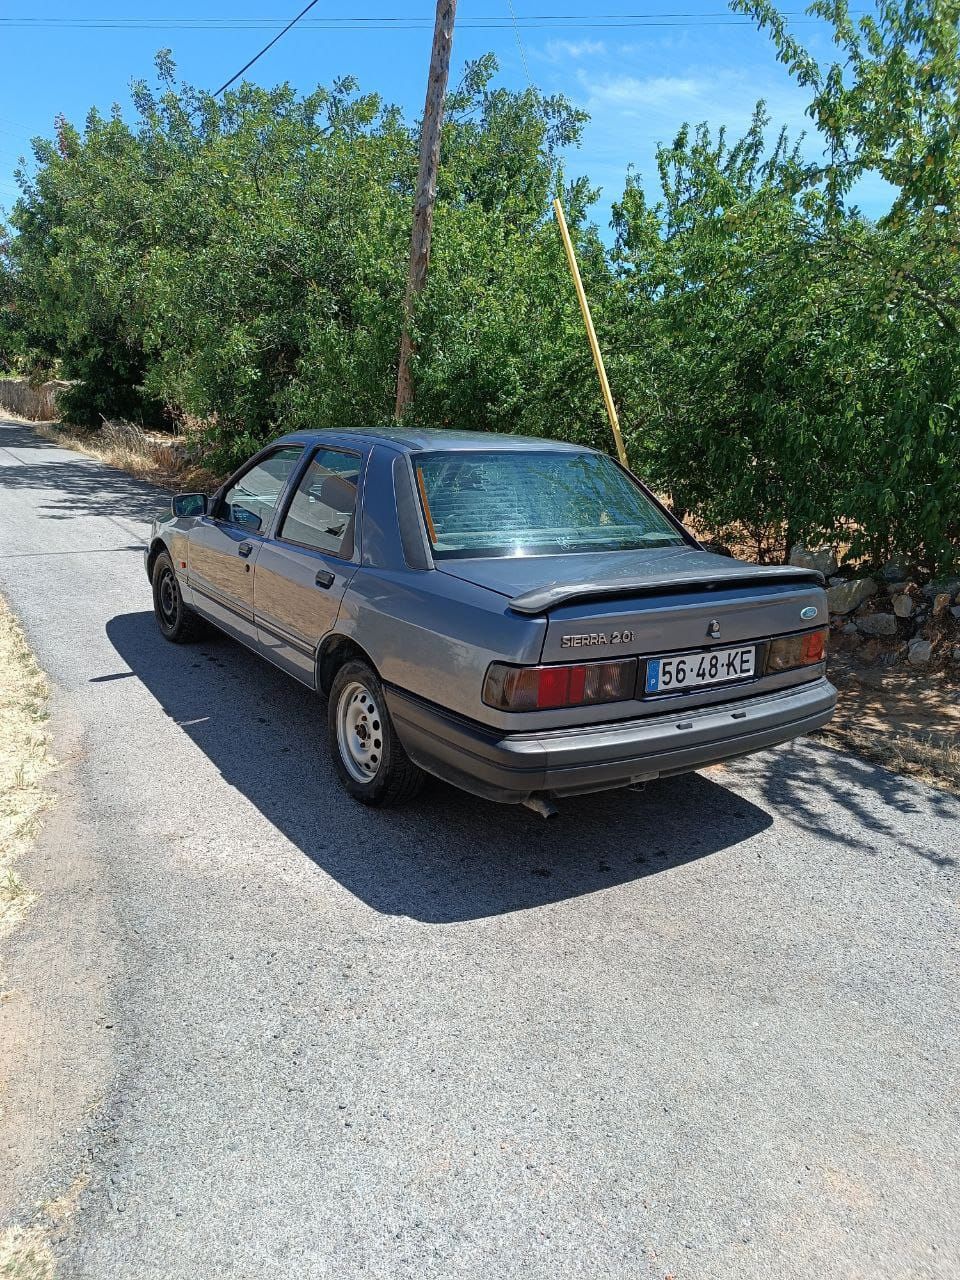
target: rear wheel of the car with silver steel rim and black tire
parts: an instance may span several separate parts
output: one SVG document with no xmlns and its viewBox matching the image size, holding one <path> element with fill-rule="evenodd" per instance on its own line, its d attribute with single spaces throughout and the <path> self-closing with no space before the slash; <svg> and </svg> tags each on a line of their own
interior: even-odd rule
<svg viewBox="0 0 960 1280">
<path fill-rule="evenodd" d="M 401 746 L 383 686 L 367 663 L 347 662 L 333 677 L 326 735 L 337 774 L 361 804 L 406 804 L 422 787 L 424 773 Z"/>
</svg>

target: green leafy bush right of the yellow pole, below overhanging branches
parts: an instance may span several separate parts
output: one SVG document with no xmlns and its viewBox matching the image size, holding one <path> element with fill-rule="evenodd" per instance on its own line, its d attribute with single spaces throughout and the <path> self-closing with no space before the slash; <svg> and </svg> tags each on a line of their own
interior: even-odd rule
<svg viewBox="0 0 960 1280">
<path fill-rule="evenodd" d="M 910 284 L 915 232 L 837 218 L 767 119 L 660 151 L 616 209 L 631 402 L 654 483 L 760 556 L 850 543 L 936 567 L 960 536 L 960 351 Z M 631 424 L 632 425 L 632 424 Z"/>
</svg>

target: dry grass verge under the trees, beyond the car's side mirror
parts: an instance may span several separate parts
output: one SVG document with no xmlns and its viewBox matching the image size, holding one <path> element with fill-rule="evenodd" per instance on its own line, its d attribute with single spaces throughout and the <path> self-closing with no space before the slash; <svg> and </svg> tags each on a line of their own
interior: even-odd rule
<svg viewBox="0 0 960 1280">
<path fill-rule="evenodd" d="M 186 457 L 186 442 L 178 436 L 145 431 L 133 422 L 104 422 L 97 431 L 83 431 L 59 422 L 31 422 L 44 440 L 77 449 L 108 466 L 125 471 L 172 492 L 211 493 L 220 480 Z"/>
</svg>

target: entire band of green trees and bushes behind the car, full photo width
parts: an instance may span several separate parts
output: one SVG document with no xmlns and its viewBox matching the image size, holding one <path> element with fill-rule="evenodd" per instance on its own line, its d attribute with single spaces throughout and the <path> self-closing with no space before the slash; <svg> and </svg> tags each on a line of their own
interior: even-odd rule
<svg viewBox="0 0 960 1280">
<path fill-rule="evenodd" d="M 813 163 L 760 104 L 728 140 L 684 127 L 659 193 L 628 175 L 607 251 L 562 156 L 584 115 L 495 83 L 449 95 L 429 283 L 425 425 L 609 447 L 553 225 L 561 193 L 631 461 L 700 527 L 760 557 L 795 539 L 931 572 L 960 558 L 960 59 L 956 0 L 815 0 L 819 65 L 769 0 L 733 0 L 809 91 Z M 35 143 L 0 238 L 0 357 L 81 380 L 74 419 L 209 422 L 216 462 L 279 430 L 392 412 L 417 131 L 344 78 L 223 101 L 134 84 Z M 877 223 L 851 204 L 891 189 Z"/>
</svg>

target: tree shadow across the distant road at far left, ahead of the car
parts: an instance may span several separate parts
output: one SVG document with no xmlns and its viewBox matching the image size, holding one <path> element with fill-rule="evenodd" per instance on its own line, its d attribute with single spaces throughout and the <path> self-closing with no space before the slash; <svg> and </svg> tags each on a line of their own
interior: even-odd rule
<svg viewBox="0 0 960 1280">
<path fill-rule="evenodd" d="M 51 502 L 37 506 L 46 520 L 105 516 L 150 522 L 164 507 L 169 511 L 169 494 L 154 485 L 82 453 L 70 453 L 69 458 L 45 457 L 63 452 L 63 445 L 45 440 L 22 422 L 0 420 L 0 448 L 14 454 L 29 451 L 32 458 L 38 458 L 4 461 L 3 486 L 55 493 Z"/>
</svg>

